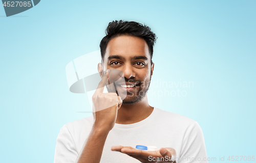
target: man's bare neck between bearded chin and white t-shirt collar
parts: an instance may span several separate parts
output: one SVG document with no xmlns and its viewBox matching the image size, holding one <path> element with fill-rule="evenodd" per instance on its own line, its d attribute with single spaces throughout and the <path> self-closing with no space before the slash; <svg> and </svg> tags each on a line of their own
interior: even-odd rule
<svg viewBox="0 0 256 163">
<path fill-rule="evenodd" d="M 153 112 L 153 107 L 148 104 L 147 96 L 132 105 L 122 104 L 117 112 L 116 123 L 132 124 L 146 119 Z"/>
</svg>

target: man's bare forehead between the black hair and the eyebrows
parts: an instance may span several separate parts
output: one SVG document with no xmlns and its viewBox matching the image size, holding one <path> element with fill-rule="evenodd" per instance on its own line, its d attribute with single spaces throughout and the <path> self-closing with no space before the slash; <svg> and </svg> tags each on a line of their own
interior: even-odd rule
<svg viewBox="0 0 256 163">
<path fill-rule="evenodd" d="M 125 59 L 145 56 L 150 60 L 146 41 L 135 36 L 118 36 L 111 39 L 106 46 L 104 61 L 108 61 L 108 58 L 113 55 L 122 56 Z"/>
</svg>

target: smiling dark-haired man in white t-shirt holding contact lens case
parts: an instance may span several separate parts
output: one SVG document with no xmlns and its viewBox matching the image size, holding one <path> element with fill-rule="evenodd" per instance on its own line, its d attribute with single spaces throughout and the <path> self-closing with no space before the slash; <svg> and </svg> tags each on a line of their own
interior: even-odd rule
<svg viewBox="0 0 256 163">
<path fill-rule="evenodd" d="M 57 137 L 54 162 L 207 162 L 199 124 L 150 106 L 146 92 L 154 72 L 156 35 L 134 21 L 113 21 L 100 42 L 101 82 L 93 95 L 93 116 L 65 124 Z M 119 70 L 125 83 L 103 93 Z M 126 96 L 122 96 L 126 93 Z M 158 147 L 138 150 L 136 145 Z"/>
</svg>

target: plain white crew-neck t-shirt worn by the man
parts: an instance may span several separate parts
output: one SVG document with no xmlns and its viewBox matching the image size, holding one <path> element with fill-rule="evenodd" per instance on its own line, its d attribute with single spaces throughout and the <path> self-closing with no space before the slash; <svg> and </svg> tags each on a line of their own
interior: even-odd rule
<svg viewBox="0 0 256 163">
<path fill-rule="evenodd" d="M 71 163 L 76 159 L 93 125 L 93 116 L 65 124 L 57 137 L 54 163 Z M 112 146 L 156 146 L 174 148 L 176 162 L 208 162 L 203 132 L 199 124 L 187 117 L 155 108 L 146 119 L 133 124 L 115 124 L 109 132 L 100 162 L 133 163 L 139 160 L 111 151 Z M 150 158 L 149 158 L 150 159 Z"/>
</svg>

